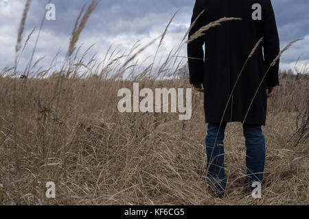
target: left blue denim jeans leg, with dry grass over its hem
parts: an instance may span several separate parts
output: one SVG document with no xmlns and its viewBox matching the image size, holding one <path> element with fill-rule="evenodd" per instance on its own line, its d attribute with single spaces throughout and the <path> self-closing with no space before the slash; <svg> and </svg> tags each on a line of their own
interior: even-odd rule
<svg viewBox="0 0 309 219">
<path fill-rule="evenodd" d="M 213 190 L 221 194 L 224 194 L 227 183 L 224 166 L 225 151 L 223 146 L 226 125 L 227 123 L 223 123 L 219 130 L 218 124 L 209 123 L 205 138 L 208 170 L 207 183 Z"/>
</svg>

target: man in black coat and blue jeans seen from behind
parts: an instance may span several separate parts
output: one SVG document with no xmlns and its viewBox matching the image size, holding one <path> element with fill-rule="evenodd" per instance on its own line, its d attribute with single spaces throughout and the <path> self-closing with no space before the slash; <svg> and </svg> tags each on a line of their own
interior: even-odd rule
<svg viewBox="0 0 309 219">
<path fill-rule="evenodd" d="M 222 17 L 241 20 L 211 27 L 187 44 L 190 83 L 195 90 L 205 92 L 207 183 L 216 196 L 225 194 L 227 183 L 223 140 L 229 122 L 243 124 L 247 148 L 244 187 L 251 192 L 253 183 L 262 183 L 265 139 L 261 127 L 266 122 L 267 99 L 279 86 L 279 60 L 271 65 L 279 53 L 271 0 L 196 0 L 189 39 L 198 29 Z"/>
</svg>

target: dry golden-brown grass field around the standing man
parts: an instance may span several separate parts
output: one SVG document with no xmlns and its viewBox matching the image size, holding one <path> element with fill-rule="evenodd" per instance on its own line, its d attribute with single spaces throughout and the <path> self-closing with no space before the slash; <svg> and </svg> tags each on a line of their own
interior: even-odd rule
<svg viewBox="0 0 309 219">
<path fill-rule="evenodd" d="M 268 102 L 262 198 L 242 189 L 240 123 L 228 124 L 226 131 L 227 194 L 213 198 L 205 183 L 203 94 L 192 93 L 191 120 L 117 110 L 118 90 L 132 88 L 133 81 L 152 90 L 190 88 L 187 78 L 173 77 L 179 71 L 171 72 L 179 49 L 157 68 L 132 64 L 144 48 L 85 60 L 76 43 L 93 2 L 79 16 L 62 69 L 41 69 L 30 77 L 32 68 L 20 73 L 14 66 L 0 73 L 1 205 L 308 205 L 308 70 L 282 73 Z M 124 79 L 124 70 L 131 77 Z M 48 181 L 56 184 L 56 198 L 45 196 Z"/>
</svg>

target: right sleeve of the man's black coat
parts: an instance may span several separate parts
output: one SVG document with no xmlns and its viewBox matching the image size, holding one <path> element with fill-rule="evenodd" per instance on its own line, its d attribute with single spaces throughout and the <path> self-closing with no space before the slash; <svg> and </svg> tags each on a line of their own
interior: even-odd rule
<svg viewBox="0 0 309 219">
<path fill-rule="evenodd" d="M 279 54 L 279 36 L 275 21 L 275 13 L 271 0 L 266 0 L 263 8 L 263 48 L 264 48 L 264 68 L 267 70 L 275 57 Z M 267 86 L 279 86 L 279 60 L 272 66 L 266 75 Z"/>
</svg>

